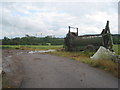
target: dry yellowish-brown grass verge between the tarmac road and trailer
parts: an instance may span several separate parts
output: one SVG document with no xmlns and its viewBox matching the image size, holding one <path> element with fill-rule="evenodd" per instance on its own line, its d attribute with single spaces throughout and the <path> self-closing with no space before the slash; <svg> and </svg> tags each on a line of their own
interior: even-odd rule
<svg viewBox="0 0 120 90">
<path fill-rule="evenodd" d="M 92 67 L 96 67 L 96 68 L 105 70 L 105 71 L 113 74 L 114 76 L 120 78 L 120 76 L 118 75 L 118 70 L 120 72 L 120 69 L 118 69 L 118 63 L 114 63 L 111 60 L 92 60 L 89 57 L 93 53 L 89 53 L 89 54 L 87 54 L 87 53 L 86 52 L 65 52 L 65 51 L 49 52 L 49 54 L 55 54 L 58 56 L 68 57 L 73 60 L 81 61 Z"/>
</svg>

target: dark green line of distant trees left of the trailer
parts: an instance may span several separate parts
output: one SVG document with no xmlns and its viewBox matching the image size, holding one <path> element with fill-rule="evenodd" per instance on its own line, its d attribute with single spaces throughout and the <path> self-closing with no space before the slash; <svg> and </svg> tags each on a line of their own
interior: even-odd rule
<svg viewBox="0 0 120 90">
<path fill-rule="evenodd" d="M 9 39 L 8 37 L 4 37 L 2 39 L 2 45 L 63 45 L 64 39 L 63 38 L 52 38 L 52 37 L 33 37 L 28 36 L 26 37 L 15 37 Z"/>
</svg>

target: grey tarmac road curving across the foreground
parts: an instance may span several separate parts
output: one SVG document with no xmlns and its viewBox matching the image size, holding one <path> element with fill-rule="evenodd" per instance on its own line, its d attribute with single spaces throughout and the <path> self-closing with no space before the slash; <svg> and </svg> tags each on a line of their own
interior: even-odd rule
<svg viewBox="0 0 120 90">
<path fill-rule="evenodd" d="M 118 79 L 79 61 L 49 54 L 20 54 L 21 88 L 118 88 Z"/>
</svg>

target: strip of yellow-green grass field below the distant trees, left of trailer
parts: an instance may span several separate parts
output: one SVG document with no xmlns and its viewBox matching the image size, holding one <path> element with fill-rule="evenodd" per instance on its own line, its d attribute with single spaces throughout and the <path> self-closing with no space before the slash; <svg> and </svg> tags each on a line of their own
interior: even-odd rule
<svg viewBox="0 0 120 90">
<path fill-rule="evenodd" d="M 22 50 L 48 50 L 61 49 L 63 45 L 1 45 L 2 49 L 22 49 Z"/>
</svg>

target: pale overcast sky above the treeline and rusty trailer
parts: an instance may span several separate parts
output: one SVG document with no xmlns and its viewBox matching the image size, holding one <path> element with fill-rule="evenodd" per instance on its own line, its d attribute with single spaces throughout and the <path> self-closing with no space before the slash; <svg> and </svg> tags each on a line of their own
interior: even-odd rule
<svg viewBox="0 0 120 90">
<path fill-rule="evenodd" d="M 55 35 L 65 37 L 68 26 L 79 35 L 100 34 L 110 21 L 110 31 L 118 33 L 118 2 L 11 1 L 0 2 L 0 38 Z M 73 29 L 72 31 L 75 31 Z"/>
</svg>

